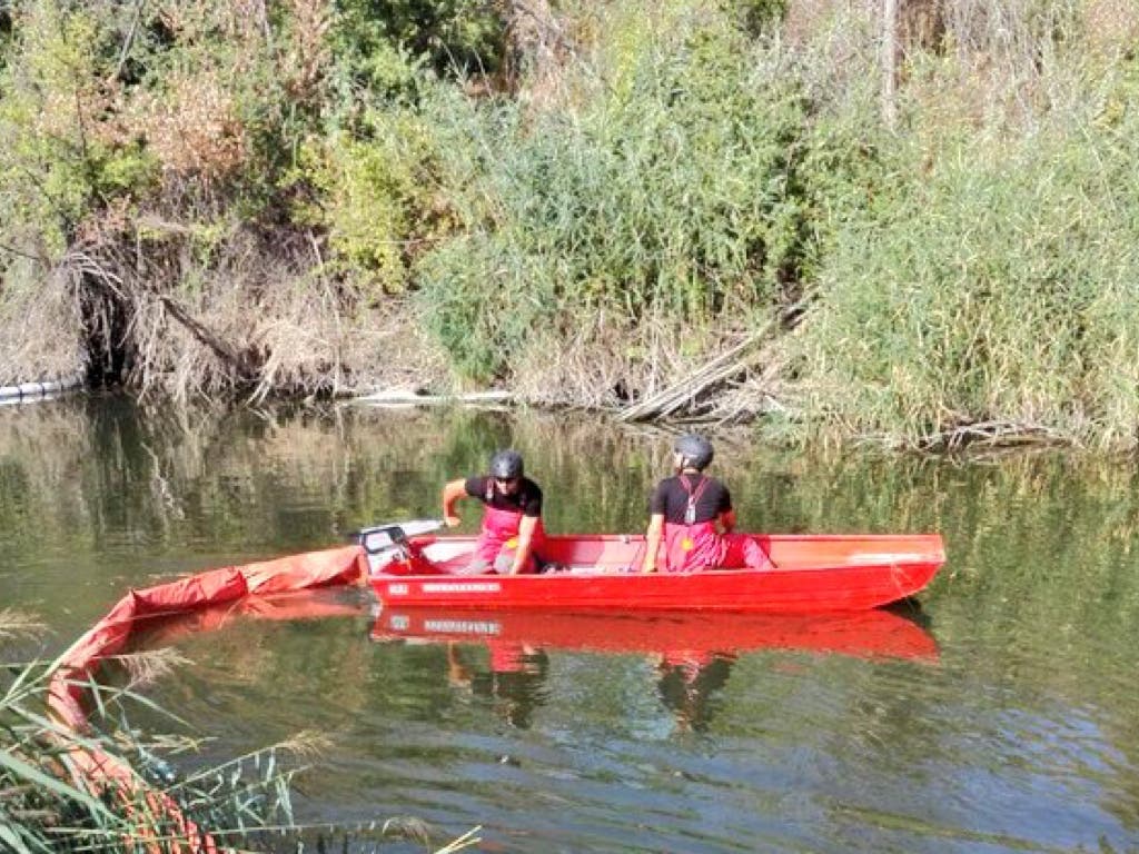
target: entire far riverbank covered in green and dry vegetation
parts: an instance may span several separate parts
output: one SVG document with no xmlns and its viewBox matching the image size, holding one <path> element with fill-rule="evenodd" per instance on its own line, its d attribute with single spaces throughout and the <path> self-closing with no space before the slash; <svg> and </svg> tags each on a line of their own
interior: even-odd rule
<svg viewBox="0 0 1139 854">
<path fill-rule="evenodd" d="M 1136 0 L 0 6 L 0 384 L 1130 449 Z"/>
</svg>

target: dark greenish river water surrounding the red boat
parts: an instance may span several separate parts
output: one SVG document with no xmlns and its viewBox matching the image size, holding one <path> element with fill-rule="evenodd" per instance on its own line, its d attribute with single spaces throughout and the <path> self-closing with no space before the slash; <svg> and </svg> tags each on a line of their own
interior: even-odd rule
<svg viewBox="0 0 1139 854">
<path fill-rule="evenodd" d="M 551 531 L 639 531 L 667 462 L 659 434 L 565 416 L 0 408 L 0 610 L 39 615 L 51 654 L 130 586 L 436 517 L 443 482 L 505 444 Z M 940 531 L 920 614 L 712 650 L 690 648 L 698 624 L 573 630 L 650 639 L 601 654 L 495 640 L 493 617 L 448 623 L 470 635 L 451 644 L 393 639 L 407 615 L 329 592 L 305 605 L 322 618 L 155 637 L 190 663 L 147 696 L 212 739 L 178 763 L 316 730 L 331 746 L 298 819 L 413 815 L 439 841 L 481 824 L 484 851 L 1139 849 L 1132 461 L 719 447 L 748 529 Z"/>
</svg>

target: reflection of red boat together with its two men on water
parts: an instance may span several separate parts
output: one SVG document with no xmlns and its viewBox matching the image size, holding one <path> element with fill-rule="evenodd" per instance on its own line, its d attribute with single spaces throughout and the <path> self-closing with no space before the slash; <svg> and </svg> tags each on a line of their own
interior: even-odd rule
<svg viewBox="0 0 1139 854">
<path fill-rule="evenodd" d="M 448 644 L 449 679 L 494 698 L 511 724 L 526 728 L 544 697 L 544 649 L 642 652 L 657 672 L 661 699 L 685 730 L 707 723 L 708 698 L 727 682 L 740 652 L 801 650 L 869 659 L 937 660 L 937 643 L 915 618 L 892 610 L 811 615 L 566 614 L 382 609 L 371 629 L 380 642 Z M 485 644 L 490 666 L 464 658 L 462 644 Z"/>
</svg>

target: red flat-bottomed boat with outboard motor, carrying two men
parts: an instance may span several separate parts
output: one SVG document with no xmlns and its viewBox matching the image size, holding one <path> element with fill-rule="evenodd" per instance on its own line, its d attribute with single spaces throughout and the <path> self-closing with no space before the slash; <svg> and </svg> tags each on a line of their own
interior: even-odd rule
<svg viewBox="0 0 1139 854">
<path fill-rule="evenodd" d="M 548 536 L 544 572 L 464 574 L 474 536 L 418 533 L 417 522 L 361 531 L 369 581 L 388 607 L 539 608 L 560 611 L 715 610 L 805 613 L 865 610 L 915 596 L 945 561 L 939 534 L 749 534 L 775 568 L 690 574 L 638 569 L 645 537 Z"/>
</svg>

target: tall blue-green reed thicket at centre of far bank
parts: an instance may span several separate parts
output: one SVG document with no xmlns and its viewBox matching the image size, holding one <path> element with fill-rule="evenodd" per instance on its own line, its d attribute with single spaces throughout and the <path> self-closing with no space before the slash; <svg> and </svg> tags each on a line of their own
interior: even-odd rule
<svg viewBox="0 0 1139 854">
<path fill-rule="evenodd" d="M 724 18 L 673 6 L 655 26 L 614 13 L 620 50 L 567 72 L 556 109 L 440 112 L 475 142 L 443 147 L 465 228 L 424 257 L 421 305 L 467 372 L 598 313 L 666 318 L 696 346 L 803 276 L 803 99 Z"/>
</svg>

